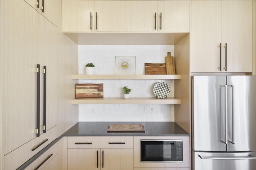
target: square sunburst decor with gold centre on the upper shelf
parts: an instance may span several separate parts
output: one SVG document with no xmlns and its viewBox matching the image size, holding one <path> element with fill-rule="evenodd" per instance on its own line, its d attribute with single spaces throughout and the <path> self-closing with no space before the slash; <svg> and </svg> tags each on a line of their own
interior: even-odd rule
<svg viewBox="0 0 256 170">
<path fill-rule="evenodd" d="M 121 74 L 121 75 L 136 74 L 135 56 L 116 56 L 115 74 Z"/>
</svg>

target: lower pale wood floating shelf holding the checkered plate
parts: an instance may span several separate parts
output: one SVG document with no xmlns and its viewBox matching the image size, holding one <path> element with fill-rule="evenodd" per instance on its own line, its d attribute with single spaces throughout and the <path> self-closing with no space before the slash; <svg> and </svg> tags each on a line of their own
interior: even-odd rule
<svg viewBox="0 0 256 170">
<path fill-rule="evenodd" d="M 177 98 L 85 98 L 73 99 L 72 104 L 181 104 Z"/>
</svg>

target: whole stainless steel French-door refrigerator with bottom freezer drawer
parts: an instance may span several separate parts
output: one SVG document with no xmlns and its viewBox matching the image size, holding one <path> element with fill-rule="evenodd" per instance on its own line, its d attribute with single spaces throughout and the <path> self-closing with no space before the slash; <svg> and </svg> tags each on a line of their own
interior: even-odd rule
<svg viewBox="0 0 256 170">
<path fill-rule="evenodd" d="M 192 169 L 256 170 L 256 76 L 192 76 Z"/>
</svg>

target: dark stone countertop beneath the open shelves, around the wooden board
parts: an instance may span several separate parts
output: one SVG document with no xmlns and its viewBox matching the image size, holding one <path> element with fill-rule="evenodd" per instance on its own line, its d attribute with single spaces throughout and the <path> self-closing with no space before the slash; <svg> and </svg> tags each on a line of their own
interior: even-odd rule
<svg viewBox="0 0 256 170">
<path fill-rule="evenodd" d="M 107 132 L 109 125 L 142 124 L 145 132 Z M 63 136 L 190 136 L 175 122 L 78 122 Z"/>
</svg>

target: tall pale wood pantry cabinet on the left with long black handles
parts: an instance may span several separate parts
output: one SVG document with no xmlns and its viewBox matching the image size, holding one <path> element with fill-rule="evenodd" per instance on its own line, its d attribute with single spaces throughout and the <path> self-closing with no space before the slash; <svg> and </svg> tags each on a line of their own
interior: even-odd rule
<svg viewBox="0 0 256 170">
<path fill-rule="evenodd" d="M 78 121 L 76 108 L 72 113 L 60 95 L 67 86 L 71 89 L 72 81 L 66 85 L 63 80 L 77 67 L 70 56 L 78 53 L 78 46 L 61 33 L 61 0 L 44 0 L 43 13 L 42 1 L 39 8 L 26 1 L 0 0 L 0 170 L 20 167 Z M 62 56 L 60 43 L 67 52 Z M 63 73 L 61 66 L 71 71 Z M 58 88 L 59 81 L 64 88 Z M 63 105 L 69 109 L 58 113 Z"/>
</svg>

